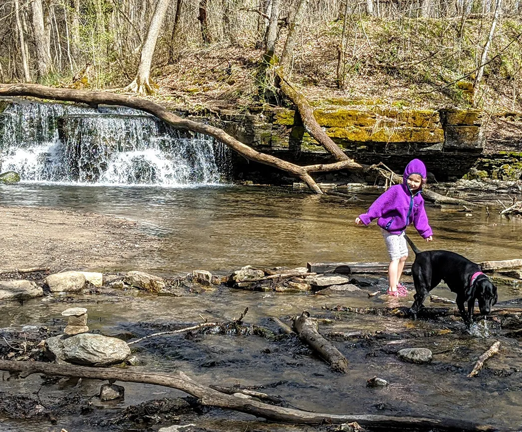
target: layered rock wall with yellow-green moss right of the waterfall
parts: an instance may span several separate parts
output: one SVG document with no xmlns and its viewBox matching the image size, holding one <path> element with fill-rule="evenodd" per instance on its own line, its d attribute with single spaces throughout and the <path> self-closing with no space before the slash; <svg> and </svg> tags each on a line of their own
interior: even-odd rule
<svg viewBox="0 0 522 432">
<path fill-rule="evenodd" d="M 484 148 L 478 110 L 401 110 L 317 106 L 314 115 L 337 145 L 364 164 L 384 162 L 401 172 L 413 157 L 426 162 L 439 181 L 460 178 Z M 274 109 L 247 115 L 221 111 L 212 121 L 256 150 L 299 164 L 333 162 L 305 130 L 298 113 Z M 269 167 L 236 158 L 236 174 L 274 175 Z"/>
</svg>

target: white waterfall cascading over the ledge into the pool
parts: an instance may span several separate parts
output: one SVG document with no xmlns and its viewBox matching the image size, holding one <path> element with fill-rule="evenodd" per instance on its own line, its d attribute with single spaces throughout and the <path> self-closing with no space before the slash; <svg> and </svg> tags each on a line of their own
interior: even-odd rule
<svg viewBox="0 0 522 432">
<path fill-rule="evenodd" d="M 230 155 L 125 107 L 15 102 L 0 113 L 0 159 L 27 182 L 175 187 L 222 182 Z"/>
</svg>

